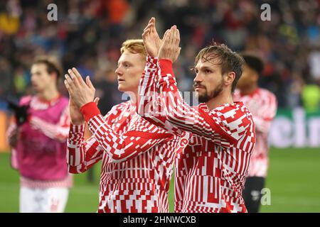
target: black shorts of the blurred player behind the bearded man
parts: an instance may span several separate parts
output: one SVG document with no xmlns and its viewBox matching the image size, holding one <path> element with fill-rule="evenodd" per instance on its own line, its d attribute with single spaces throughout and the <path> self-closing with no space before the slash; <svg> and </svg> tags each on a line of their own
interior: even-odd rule
<svg viewBox="0 0 320 227">
<path fill-rule="evenodd" d="M 257 213 L 260 207 L 261 190 L 265 187 L 265 177 L 247 177 L 242 196 L 248 213 Z"/>
</svg>

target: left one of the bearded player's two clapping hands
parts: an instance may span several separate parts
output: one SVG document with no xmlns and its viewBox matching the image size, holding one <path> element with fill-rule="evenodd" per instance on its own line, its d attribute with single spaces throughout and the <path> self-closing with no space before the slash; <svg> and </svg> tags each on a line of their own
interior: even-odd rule
<svg viewBox="0 0 320 227">
<path fill-rule="evenodd" d="M 158 56 L 162 40 L 156 31 L 156 18 L 152 17 L 150 19 L 148 25 L 144 28 L 144 33 L 142 33 L 142 39 L 144 40 L 144 47 L 148 55 L 151 57 Z"/>
</svg>

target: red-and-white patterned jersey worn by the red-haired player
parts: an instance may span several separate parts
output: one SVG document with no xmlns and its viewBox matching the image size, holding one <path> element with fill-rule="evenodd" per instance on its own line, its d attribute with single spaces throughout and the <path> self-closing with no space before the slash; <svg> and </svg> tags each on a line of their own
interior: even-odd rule
<svg viewBox="0 0 320 227">
<path fill-rule="evenodd" d="M 102 160 L 98 212 L 168 212 L 169 182 L 174 155 L 185 145 L 141 118 L 131 101 L 114 106 L 103 117 L 94 102 L 81 111 L 92 133 L 71 126 L 68 166 L 81 173 Z"/>
</svg>

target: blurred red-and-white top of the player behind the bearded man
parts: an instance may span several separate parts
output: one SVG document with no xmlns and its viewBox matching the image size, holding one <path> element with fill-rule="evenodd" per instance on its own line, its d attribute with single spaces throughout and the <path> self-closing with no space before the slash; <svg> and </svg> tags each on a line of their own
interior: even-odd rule
<svg viewBox="0 0 320 227">
<path fill-rule="evenodd" d="M 253 121 L 255 121 L 257 142 L 251 157 L 248 176 L 267 177 L 269 166 L 267 140 L 272 120 L 277 113 L 277 98 L 267 89 L 259 88 L 248 95 L 241 95 L 240 90 L 236 89 L 233 99 L 242 101 L 252 113 Z"/>
</svg>

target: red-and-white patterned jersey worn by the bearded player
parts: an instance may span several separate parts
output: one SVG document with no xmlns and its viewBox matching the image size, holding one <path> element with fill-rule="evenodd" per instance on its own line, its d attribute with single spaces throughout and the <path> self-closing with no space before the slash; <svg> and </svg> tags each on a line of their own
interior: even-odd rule
<svg viewBox="0 0 320 227">
<path fill-rule="evenodd" d="M 191 133 L 176 155 L 175 212 L 246 212 L 242 189 L 255 145 L 250 111 L 242 103 L 188 106 L 169 60 L 147 57 L 144 72 L 139 115 L 176 135 Z"/>
</svg>

